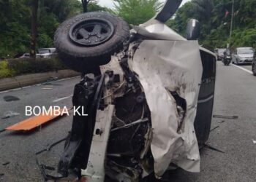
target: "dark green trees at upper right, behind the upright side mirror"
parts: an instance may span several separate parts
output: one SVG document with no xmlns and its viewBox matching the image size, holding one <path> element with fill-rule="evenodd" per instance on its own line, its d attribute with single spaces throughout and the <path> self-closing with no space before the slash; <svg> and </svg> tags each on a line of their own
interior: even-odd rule
<svg viewBox="0 0 256 182">
<path fill-rule="evenodd" d="M 256 47 L 256 1 L 234 2 L 231 46 Z M 201 25 L 200 43 L 225 47 L 229 43 L 231 15 L 231 0 L 192 0 L 178 9 L 169 25 L 184 34 L 189 18 L 196 18 Z"/>
</svg>

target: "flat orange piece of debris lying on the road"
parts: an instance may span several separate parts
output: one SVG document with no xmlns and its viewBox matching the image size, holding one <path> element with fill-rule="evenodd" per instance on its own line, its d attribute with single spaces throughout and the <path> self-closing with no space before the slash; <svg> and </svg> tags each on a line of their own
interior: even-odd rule
<svg viewBox="0 0 256 182">
<path fill-rule="evenodd" d="M 56 113 L 53 112 L 53 113 L 46 114 L 46 115 L 40 114 L 39 116 L 32 116 L 28 119 L 25 119 L 25 120 L 21 121 L 21 122 L 13 124 L 12 126 L 7 127 L 6 129 L 1 130 L 0 132 L 4 132 L 5 130 L 16 130 L 16 131 L 18 131 L 18 130 L 23 130 L 23 131 L 32 130 L 36 127 L 41 126 L 42 124 L 45 124 L 46 122 L 50 122 L 53 119 L 56 119 L 59 116 L 64 116 L 65 114 L 62 115 L 62 111 L 63 111 L 63 109 L 61 109 L 59 112 L 56 112 Z"/>
</svg>

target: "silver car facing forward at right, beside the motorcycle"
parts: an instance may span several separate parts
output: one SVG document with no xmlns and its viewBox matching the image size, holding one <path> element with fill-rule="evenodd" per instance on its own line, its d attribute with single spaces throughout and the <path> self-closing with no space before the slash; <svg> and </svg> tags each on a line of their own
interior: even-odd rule
<svg viewBox="0 0 256 182">
<path fill-rule="evenodd" d="M 252 47 L 238 47 L 232 54 L 232 63 L 252 63 L 255 59 L 255 49 Z"/>
</svg>

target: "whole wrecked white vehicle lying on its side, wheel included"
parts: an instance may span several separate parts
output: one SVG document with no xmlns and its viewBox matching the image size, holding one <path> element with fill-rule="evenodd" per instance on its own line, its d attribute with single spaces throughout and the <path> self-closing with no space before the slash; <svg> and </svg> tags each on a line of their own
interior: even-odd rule
<svg viewBox="0 0 256 182">
<path fill-rule="evenodd" d="M 214 103 L 216 56 L 165 22 L 181 0 L 167 0 L 151 20 L 129 25 L 106 12 L 88 12 L 56 31 L 59 57 L 83 73 L 74 116 L 59 161 L 60 178 L 146 181 L 170 169 L 200 171 L 198 144 L 208 139 Z"/>
</svg>

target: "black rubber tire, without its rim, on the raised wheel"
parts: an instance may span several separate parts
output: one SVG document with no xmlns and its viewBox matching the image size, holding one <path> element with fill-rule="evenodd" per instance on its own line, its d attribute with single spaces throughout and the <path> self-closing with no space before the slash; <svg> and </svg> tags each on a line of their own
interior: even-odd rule
<svg viewBox="0 0 256 182">
<path fill-rule="evenodd" d="M 102 44 L 86 46 L 72 41 L 69 31 L 72 25 L 84 23 L 92 18 L 105 20 L 113 25 L 112 36 Z M 116 15 L 107 12 L 87 12 L 61 23 L 54 36 L 54 44 L 59 58 L 75 71 L 83 74 L 92 73 L 99 66 L 110 61 L 111 55 L 124 47 L 129 39 L 129 25 Z"/>
</svg>

